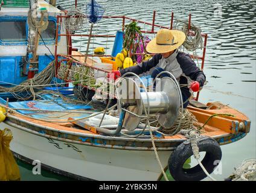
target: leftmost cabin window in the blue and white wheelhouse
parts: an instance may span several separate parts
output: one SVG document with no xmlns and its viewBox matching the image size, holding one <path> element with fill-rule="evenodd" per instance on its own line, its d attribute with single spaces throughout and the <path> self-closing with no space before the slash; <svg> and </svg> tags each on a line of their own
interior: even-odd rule
<svg viewBox="0 0 256 193">
<path fill-rule="evenodd" d="M 25 41 L 25 21 L 2 21 L 0 22 L 0 40 L 8 42 Z"/>
</svg>

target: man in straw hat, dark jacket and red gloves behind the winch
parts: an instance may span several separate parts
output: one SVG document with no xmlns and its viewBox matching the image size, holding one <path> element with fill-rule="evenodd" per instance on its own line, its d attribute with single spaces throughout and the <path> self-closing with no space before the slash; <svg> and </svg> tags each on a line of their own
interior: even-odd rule
<svg viewBox="0 0 256 193">
<path fill-rule="evenodd" d="M 147 52 L 154 53 L 153 57 L 145 62 L 139 63 L 130 68 L 113 71 L 114 78 L 121 77 L 126 72 L 139 74 L 151 74 L 155 78 L 161 71 L 168 71 L 174 75 L 179 84 L 187 86 L 181 87 L 184 108 L 188 106 L 188 99 L 191 96 L 190 89 L 198 92 L 205 83 L 205 74 L 189 54 L 178 51 L 179 46 L 185 41 L 185 34 L 179 30 L 159 30 L 155 39 L 147 45 Z"/>
</svg>

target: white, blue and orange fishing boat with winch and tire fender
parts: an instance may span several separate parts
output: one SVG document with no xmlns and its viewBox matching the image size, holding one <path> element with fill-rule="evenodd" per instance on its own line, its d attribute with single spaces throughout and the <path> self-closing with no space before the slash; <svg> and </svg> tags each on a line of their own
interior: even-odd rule
<svg viewBox="0 0 256 193">
<path fill-rule="evenodd" d="M 124 75 L 110 84 L 115 90 L 112 93 L 104 87 L 104 81 L 97 83 L 117 68 L 115 56 L 122 49 L 125 22 L 148 25 L 151 29 L 141 33 L 156 34 L 155 28 L 173 28 L 173 13 L 170 27 L 156 24 L 155 11 L 152 23 L 126 16 L 102 16 L 100 19 L 119 19 L 122 31 L 116 35 L 93 34 L 97 21 L 89 23 L 89 33 L 79 31 L 82 19 L 92 13 L 57 8 L 55 1 L 3 2 L 0 103 L 6 118 L 0 128 L 13 133 L 10 148 L 18 159 L 28 163 L 39 160 L 43 168 L 78 180 L 160 180 L 167 169 L 175 180 L 202 180 L 221 160 L 220 145 L 249 133 L 246 115 L 229 106 L 202 104 L 199 93 L 187 110 L 182 109 L 179 84 L 171 74 L 159 78 L 158 92 L 148 90 L 149 85 L 135 74 L 139 83 Z M 77 5 L 75 1 L 75 8 Z M 98 4 L 91 1 L 88 8 L 94 5 Z M 196 36 L 190 26 L 191 15 L 187 35 Z M 201 61 L 203 69 L 207 34 L 199 35 L 203 39 L 202 57 L 194 59 Z M 113 38 L 112 54 L 89 54 L 88 49 L 82 53 L 72 47 L 74 37 L 88 37 L 84 42 L 88 48 L 91 37 Z M 126 98 L 120 97 L 121 90 L 127 90 Z M 190 124 L 182 127 L 185 112 Z M 157 122 L 154 126 L 150 124 L 152 118 Z M 162 129 L 165 127 L 171 128 L 168 133 Z M 194 142 L 197 153 L 206 151 L 199 161 L 206 172 L 200 163 L 184 168 L 195 154 L 191 148 Z"/>
</svg>

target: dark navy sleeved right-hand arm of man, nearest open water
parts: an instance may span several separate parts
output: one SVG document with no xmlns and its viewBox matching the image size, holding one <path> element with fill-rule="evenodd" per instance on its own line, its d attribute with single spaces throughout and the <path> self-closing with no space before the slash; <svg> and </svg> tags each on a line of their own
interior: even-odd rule
<svg viewBox="0 0 256 193">
<path fill-rule="evenodd" d="M 194 60 L 191 59 L 190 55 L 185 54 L 184 52 L 179 52 L 177 60 L 181 65 L 184 74 L 190 77 L 191 80 L 199 82 L 200 87 L 202 87 L 206 79 L 205 74 L 196 66 L 196 63 L 194 63 Z"/>
</svg>

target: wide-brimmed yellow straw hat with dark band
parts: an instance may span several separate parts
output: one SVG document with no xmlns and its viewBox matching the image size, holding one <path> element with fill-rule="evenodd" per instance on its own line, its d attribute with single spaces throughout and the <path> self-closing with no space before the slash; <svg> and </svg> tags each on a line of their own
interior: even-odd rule
<svg viewBox="0 0 256 193">
<path fill-rule="evenodd" d="M 179 48 L 185 41 L 185 34 L 179 30 L 161 29 L 156 37 L 147 45 L 147 51 L 150 53 L 165 53 Z"/>
</svg>

